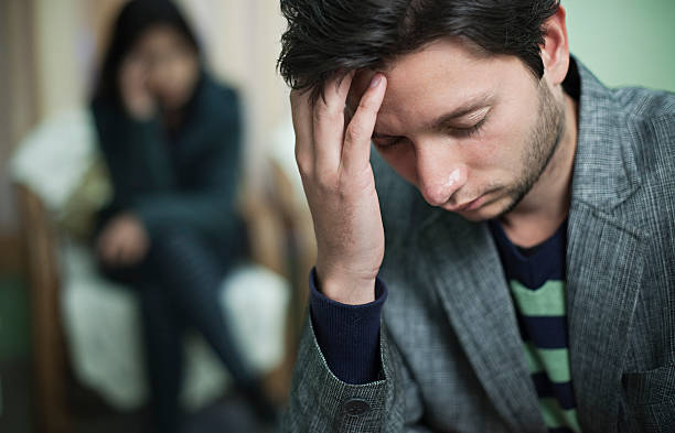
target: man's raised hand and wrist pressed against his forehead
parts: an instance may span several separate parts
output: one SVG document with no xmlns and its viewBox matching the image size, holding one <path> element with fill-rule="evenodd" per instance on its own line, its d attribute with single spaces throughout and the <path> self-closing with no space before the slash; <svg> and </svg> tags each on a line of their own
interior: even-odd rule
<svg viewBox="0 0 675 433">
<path fill-rule="evenodd" d="M 324 97 L 291 91 L 296 160 L 317 237 L 321 291 L 346 304 L 375 299 L 384 258 L 384 229 L 369 163 L 371 137 L 386 78 L 376 74 L 345 128 L 345 101 L 354 74 L 333 78 Z"/>
</svg>

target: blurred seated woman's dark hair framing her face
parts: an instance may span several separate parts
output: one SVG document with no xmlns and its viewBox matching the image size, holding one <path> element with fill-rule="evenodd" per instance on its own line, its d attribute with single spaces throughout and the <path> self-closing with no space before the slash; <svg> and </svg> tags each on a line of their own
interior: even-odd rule
<svg viewBox="0 0 675 433">
<path fill-rule="evenodd" d="M 138 40 L 151 28 L 169 25 L 185 37 L 200 56 L 200 45 L 194 32 L 179 8 L 169 0 L 131 0 L 119 11 L 108 50 L 104 55 L 94 100 L 120 101 L 118 73 L 122 61 Z"/>
</svg>

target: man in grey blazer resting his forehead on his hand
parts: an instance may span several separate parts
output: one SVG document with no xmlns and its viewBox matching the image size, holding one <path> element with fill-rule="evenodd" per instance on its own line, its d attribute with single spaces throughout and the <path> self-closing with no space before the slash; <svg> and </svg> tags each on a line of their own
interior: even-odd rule
<svg viewBox="0 0 675 433">
<path fill-rule="evenodd" d="M 675 97 L 604 88 L 557 0 L 281 8 L 318 241 L 285 430 L 675 431 Z"/>
</svg>

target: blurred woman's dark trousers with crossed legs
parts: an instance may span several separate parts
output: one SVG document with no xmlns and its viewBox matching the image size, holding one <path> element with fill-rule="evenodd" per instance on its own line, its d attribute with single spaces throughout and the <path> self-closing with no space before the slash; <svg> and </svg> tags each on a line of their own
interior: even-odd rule
<svg viewBox="0 0 675 433">
<path fill-rule="evenodd" d="M 127 269 L 105 269 L 111 279 L 135 288 L 140 305 L 154 424 L 159 433 L 178 432 L 183 378 L 182 333 L 199 331 L 243 391 L 256 388 L 221 308 L 218 288 L 239 243 L 222 245 L 188 230 L 168 231 L 152 241 L 147 258 Z"/>
</svg>

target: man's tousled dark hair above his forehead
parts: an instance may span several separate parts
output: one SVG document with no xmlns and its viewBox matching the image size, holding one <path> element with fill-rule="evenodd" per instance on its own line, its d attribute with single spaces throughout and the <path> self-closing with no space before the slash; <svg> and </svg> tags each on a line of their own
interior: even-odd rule
<svg viewBox="0 0 675 433">
<path fill-rule="evenodd" d="M 321 94 L 336 72 L 379 68 L 440 37 L 483 54 L 515 55 L 544 75 L 544 22 L 559 0 L 281 0 L 288 29 L 278 68 L 296 89 Z"/>
</svg>

